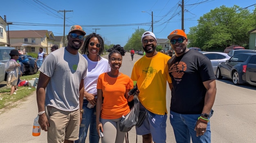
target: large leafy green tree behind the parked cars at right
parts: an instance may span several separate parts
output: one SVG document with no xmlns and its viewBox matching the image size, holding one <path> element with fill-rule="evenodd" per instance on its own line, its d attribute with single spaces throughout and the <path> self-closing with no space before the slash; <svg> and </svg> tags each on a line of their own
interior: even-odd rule
<svg viewBox="0 0 256 143">
<path fill-rule="evenodd" d="M 255 28 L 256 10 L 254 14 L 248 9 L 237 5 L 224 5 L 204 14 L 198 20 L 198 25 L 190 28 L 187 34 L 188 47 L 199 47 L 204 51 L 223 51 L 230 45 L 245 45 L 249 43 L 248 31 Z M 252 22 L 253 21 L 253 22 Z"/>
</svg>

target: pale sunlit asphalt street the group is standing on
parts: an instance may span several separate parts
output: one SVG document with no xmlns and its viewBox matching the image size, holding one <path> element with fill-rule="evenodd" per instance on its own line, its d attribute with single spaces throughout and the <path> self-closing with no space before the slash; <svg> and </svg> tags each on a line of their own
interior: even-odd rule
<svg viewBox="0 0 256 143">
<path fill-rule="evenodd" d="M 108 55 L 104 57 L 108 58 Z M 129 75 L 132 66 L 141 55 L 129 53 L 123 57 L 121 72 Z M 217 95 L 211 117 L 212 143 L 256 143 L 256 86 L 235 86 L 231 80 L 217 80 Z M 185 89 L 185 87 L 184 87 Z M 170 107 L 171 90 L 167 88 L 167 109 Z M 47 132 L 32 136 L 34 118 L 38 109 L 36 93 L 17 103 L 16 108 L 0 113 L 0 143 L 46 143 Z M 173 130 L 167 119 L 166 143 L 175 143 Z M 129 142 L 135 143 L 135 128 L 129 132 Z M 89 143 L 87 140 L 86 143 Z M 138 136 L 138 143 L 142 143 Z"/>
</svg>

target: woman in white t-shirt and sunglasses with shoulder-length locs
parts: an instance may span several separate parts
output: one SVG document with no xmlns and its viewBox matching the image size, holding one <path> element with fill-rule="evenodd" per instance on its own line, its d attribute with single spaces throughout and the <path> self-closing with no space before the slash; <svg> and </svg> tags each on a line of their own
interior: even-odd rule
<svg viewBox="0 0 256 143">
<path fill-rule="evenodd" d="M 91 33 L 85 37 L 81 54 L 88 62 L 87 76 L 83 79 L 83 117 L 80 124 L 79 139 L 75 143 L 85 143 L 90 125 L 89 142 L 99 143 L 99 135 L 96 127 L 96 101 L 97 81 L 101 73 L 110 71 L 108 59 L 101 57 L 104 51 L 104 42 L 99 34 Z"/>
</svg>

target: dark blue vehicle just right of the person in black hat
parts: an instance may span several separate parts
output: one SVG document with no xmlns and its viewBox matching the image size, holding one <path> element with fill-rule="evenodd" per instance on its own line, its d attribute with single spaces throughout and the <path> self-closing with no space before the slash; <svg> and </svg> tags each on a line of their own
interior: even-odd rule
<svg viewBox="0 0 256 143">
<path fill-rule="evenodd" d="M 30 55 L 19 55 L 18 60 L 19 62 L 22 62 L 25 67 L 23 74 L 34 75 L 37 73 L 38 69 L 34 57 L 31 57 Z"/>
</svg>

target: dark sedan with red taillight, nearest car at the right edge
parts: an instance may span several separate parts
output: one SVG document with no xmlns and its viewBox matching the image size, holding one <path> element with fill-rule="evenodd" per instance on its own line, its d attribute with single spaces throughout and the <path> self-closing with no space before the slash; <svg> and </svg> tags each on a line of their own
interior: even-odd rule
<svg viewBox="0 0 256 143">
<path fill-rule="evenodd" d="M 239 53 L 220 63 L 216 77 L 227 77 L 236 85 L 248 83 L 256 86 L 256 53 Z"/>
</svg>

